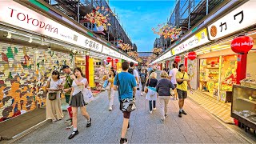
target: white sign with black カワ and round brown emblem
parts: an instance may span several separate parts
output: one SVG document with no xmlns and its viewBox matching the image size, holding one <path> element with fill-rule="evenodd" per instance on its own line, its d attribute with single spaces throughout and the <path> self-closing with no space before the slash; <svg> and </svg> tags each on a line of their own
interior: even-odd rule
<svg viewBox="0 0 256 144">
<path fill-rule="evenodd" d="M 210 40 L 243 30 L 256 24 L 256 1 L 248 1 L 207 27 Z"/>
</svg>

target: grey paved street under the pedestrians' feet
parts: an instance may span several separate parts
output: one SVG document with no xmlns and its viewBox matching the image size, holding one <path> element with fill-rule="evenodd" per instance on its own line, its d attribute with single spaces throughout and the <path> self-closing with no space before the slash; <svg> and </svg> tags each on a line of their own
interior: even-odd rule
<svg viewBox="0 0 256 144">
<path fill-rule="evenodd" d="M 130 130 L 126 136 L 130 143 L 244 143 L 230 130 L 216 121 L 198 105 L 186 101 L 188 115 L 178 118 L 178 101 L 169 103 L 169 118 L 159 121 L 157 110 L 148 112 L 145 97 L 137 94 L 138 109 L 131 114 Z M 92 126 L 86 128 L 86 120 L 78 117 L 79 134 L 68 139 L 71 130 L 66 130 L 64 121 L 42 126 L 39 130 L 22 138 L 24 143 L 118 143 L 122 127 L 122 113 L 118 110 L 118 98 L 114 99 L 114 110 L 108 110 L 106 92 L 98 94 L 87 106 Z M 80 113 L 79 113 L 80 114 Z"/>
</svg>

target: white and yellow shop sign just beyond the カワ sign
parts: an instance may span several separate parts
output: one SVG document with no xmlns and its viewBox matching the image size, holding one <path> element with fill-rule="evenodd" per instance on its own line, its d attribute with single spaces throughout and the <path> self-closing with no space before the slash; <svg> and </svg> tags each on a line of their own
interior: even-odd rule
<svg viewBox="0 0 256 144">
<path fill-rule="evenodd" d="M 186 50 L 193 49 L 197 46 L 202 46 L 203 44 L 206 44 L 207 42 L 210 42 L 207 38 L 207 30 L 206 28 L 192 36 L 191 38 L 187 39 L 185 42 L 182 42 L 178 46 L 175 46 L 174 49 L 172 49 L 171 53 L 173 55 L 180 54 Z"/>
</svg>

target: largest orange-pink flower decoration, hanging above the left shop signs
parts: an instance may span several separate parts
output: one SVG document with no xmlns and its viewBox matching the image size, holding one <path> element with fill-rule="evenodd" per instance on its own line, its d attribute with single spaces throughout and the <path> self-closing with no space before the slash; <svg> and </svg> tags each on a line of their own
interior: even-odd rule
<svg viewBox="0 0 256 144">
<path fill-rule="evenodd" d="M 94 9 L 93 12 L 91 12 L 90 14 L 86 14 L 85 18 L 86 20 L 89 20 L 91 23 L 96 24 L 98 27 L 103 26 L 106 30 L 106 26 L 111 26 L 111 24 L 108 21 L 110 21 L 110 13 L 113 13 L 110 9 L 105 9 L 104 6 L 102 6 L 102 13 L 98 10 L 100 10 L 99 6 L 97 6 L 96 9 Z"/>
</svg>

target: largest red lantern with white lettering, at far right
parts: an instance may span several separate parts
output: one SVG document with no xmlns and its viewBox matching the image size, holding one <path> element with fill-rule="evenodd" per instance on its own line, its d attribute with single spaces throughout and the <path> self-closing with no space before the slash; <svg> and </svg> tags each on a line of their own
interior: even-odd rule
<svg viewBox="0 0 256 144">
<path fill-rule="evenodd" d="M 254 46 L 254 38 L 241 36 L 234 38 L 231 42 L 231 49 L 238 54 L 246 54 Z"/>
</svg>

